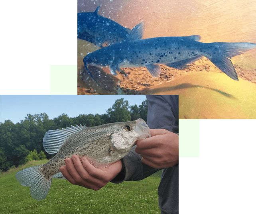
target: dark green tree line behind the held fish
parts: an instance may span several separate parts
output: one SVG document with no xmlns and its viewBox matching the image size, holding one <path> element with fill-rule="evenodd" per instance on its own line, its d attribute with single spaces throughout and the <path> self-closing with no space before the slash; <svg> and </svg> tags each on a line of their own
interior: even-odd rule
<svg viewBox="0 0 256 214">
<path fill-rule="evenodd" d="M 48 154 L 43 148 L 43 137 L 48 130 L 57 130 L 84 124 L 87 127 L 98 126 L 114 122 L 126 122 L 142 118 L 147 121 L 148 101 L 144 100 L 140 106 L 130 106 L 124 98 L 116 100 L 106 114 L 80 114 L 69 118 L 61 114 L 57 118 L 49 119 L 46 113 L 27 114 L 25 120 L 14 124 L 10 120 L 0 123 L 0 171 L 7 171 L 11 167 L 23 165 L 32 159 L 49 159 L 54 155 Z"/>
</svg>

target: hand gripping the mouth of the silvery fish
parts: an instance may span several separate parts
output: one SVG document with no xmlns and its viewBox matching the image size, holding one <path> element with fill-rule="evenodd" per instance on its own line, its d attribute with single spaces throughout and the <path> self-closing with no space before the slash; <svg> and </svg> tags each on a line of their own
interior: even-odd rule
<svg viewBox="0 0 256 214">
<path fill-rule="evenodd" d="M 156 169 L 174 166 L 179 161 L 179 135 L 165 129 L 150 129 L 150 133 L 151 137 L 136 143 L 142 163 Z"/>
</svg>

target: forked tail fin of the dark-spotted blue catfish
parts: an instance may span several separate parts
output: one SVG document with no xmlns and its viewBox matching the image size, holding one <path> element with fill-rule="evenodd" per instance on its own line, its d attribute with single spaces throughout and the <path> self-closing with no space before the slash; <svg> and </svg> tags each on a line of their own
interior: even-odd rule
<svg viewBox="0 0 256 214">
<path fill-rule="evenodd" d="M 211 44 L 215 45 L 214 49 L 216 51 L 213 51 L 211 55 L 206 57 L 209 58 L 221 71 L 228 75 L 228 77 L 234 80 L 238 80 L 238 78 L 230 58 L 240 55 L 250 49 L 256 48 L 256 44 L 254 43 L 215 42 Z"/>
</svg>

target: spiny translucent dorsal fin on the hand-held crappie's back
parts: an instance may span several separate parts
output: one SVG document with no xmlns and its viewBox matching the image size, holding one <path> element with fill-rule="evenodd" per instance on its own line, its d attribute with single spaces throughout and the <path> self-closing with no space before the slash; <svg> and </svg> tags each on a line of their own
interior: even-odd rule
<svg viewBox="0 0 256 214">
<path fill-rule="evenodd" d="M 85 129 L 87 127 L 80 124 L 80 126 L 71 126 L 62 130 L 49 130 L 43 137 L 43 147 L 49 154 L 57 153 L 67 138 Z"/>
</svg>

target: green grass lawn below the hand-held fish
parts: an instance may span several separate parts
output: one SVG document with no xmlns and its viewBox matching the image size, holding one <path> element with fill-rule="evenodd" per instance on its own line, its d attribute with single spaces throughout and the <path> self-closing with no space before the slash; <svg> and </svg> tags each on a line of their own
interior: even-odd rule
<svg viewBox="0 0 256 214">
<path fill-rule="evenodd" d="M 72 185 L 67 180 L 53 179 L 44 200 L 30 195 L 29 187 L 16 181 L 21 169 L 47 163 L 33 161 L 25 166 L 0 174 L 0 213 L 15 214 L 160 214 L 157 189 L 160 177 L 142 181 L 108 183 L 98 191 Z"/>
</svg>

